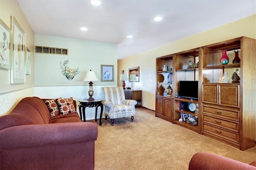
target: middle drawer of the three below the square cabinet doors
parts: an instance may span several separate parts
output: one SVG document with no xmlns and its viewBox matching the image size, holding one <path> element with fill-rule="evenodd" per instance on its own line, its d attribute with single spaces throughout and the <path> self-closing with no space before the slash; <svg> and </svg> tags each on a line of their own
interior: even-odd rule
<svg viewBox="0 0 256 170">
<path fill-rule="evenodd" d="M 217 119 L 215 117 L 211 117 L 208 115 L 203 115 L 203 122 L 211 125 L 215 125 L 221 128 L 226 128 L 228 130 L 233 130 L 235 132 L 239 131 L 239 123 L 238 122 L 230 122 L 225 121 L 223 119 Z"/>
</svg>

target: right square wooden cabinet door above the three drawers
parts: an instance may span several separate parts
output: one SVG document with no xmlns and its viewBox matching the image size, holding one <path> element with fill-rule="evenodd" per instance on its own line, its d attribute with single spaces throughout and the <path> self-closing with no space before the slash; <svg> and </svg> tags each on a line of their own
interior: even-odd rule
<svg viewBox="0 0 256 170">
<path fill-rule="evenodd" d="M 219 85 L 219 105 L 240 107 L 239 85 Z"/>
</svg>

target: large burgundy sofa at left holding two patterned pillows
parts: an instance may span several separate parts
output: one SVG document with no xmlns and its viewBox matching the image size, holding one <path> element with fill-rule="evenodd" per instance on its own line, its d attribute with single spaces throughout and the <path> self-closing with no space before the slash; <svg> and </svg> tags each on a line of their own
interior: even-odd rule
<svg viewBox="0 0 256 170">
<path fill-rule="evenodd" d="M 0 117 L 0 169 L 92 170 L 97 137 L 78 113 L 50 118 L 42 99 L 26 97 Z"/>
</svg>

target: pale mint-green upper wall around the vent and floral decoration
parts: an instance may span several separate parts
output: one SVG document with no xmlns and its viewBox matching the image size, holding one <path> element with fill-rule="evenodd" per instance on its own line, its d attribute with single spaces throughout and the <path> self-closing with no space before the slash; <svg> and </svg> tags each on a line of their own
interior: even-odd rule
<svg viewBox="0 0 256 170">
<path fill-rule="evenodd" d="M 117 85 L 116 44 L 35 34 L 35 45 L 68 49 L 68 55 L 35 53 L 35 86 L 84 85 L 90 69 L 100 80 L 101 64 L 114 65 L 114 81 L 93 82 L 94 85 Z M 61 73 L 60 61 L 67 59 L 68 67 L 80 70 L 72 80 Z"/>
</svg>

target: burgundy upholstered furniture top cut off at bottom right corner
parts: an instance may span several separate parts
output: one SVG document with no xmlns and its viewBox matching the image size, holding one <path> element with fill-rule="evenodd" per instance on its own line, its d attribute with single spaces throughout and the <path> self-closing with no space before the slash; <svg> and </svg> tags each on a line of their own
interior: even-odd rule
<svg viewBox="0 0 256 170">
<path fill-rule="evenodd" d="M 256 161 L 245 164 L 224 156 L 198 152 L 192 156 L 189 170 L 256 170 Z"/>
</svg>

